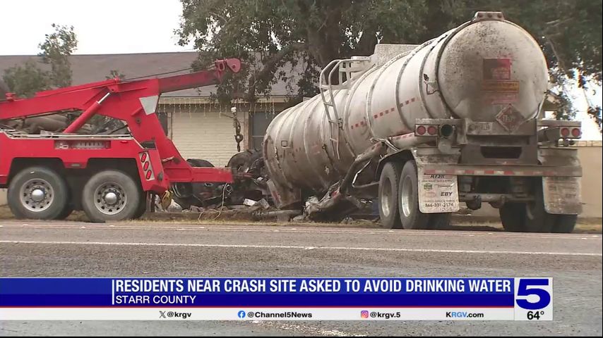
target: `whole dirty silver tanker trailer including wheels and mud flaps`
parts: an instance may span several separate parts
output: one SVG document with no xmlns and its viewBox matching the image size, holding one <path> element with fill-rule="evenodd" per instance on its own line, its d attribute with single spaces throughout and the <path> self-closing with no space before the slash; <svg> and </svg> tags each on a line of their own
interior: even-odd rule
<svg viewBox="0 0 603 338">
<path fill-rule="evenodd" d="M 535 39 L 499 12 L 418 46 L 332 61 L 321 94 L 268 127 L 273 199 L 315 214 L 377 198 L 383 227 L 408 229 L 486 202 L 506 230 L 571 232 L 580 123 L 539 120 L 548 79 Z"/>
</svg>

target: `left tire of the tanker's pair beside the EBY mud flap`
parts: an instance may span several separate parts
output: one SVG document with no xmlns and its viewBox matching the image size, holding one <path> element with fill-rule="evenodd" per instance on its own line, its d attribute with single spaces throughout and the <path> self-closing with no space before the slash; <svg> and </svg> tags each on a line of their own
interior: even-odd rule
<svg viewBox="0 0 603 338">
<path fill-rule="evenodd" d="M 398 182 L 400 181 L 400 163 L 388 162 L 381 170 L 379 178 L 379 217 L 381 227 L 401 229 L 398 213 Z"/>
</svg>

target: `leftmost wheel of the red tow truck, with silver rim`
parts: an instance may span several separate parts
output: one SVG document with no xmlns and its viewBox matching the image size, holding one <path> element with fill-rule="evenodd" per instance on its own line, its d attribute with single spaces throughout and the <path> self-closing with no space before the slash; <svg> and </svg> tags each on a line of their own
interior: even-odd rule
<svg viewBox="0 0 603 338">
<path fill-rule="evenodd" d="M 34 195 L 40 191 L 42 197 Z M 8 207 L 16 218 L 54 220 L 64 211 L 68 192 L 64 178 L 54 170 L 42 166 L 25 168 L 8 185 Z M 38 198 L 42 200 L 36 201 Z"/>
</svg>

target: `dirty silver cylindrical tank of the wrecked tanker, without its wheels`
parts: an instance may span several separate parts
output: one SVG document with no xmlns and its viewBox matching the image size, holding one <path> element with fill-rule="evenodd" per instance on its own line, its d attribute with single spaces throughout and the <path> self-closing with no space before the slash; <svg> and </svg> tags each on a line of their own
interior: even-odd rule
<svg viewBox="0 0 603 338">
<path fill-rule="evenodd" d="M 548 89 L 542 49 L 502 13 L 478 14 L 423 44 L 378 44 L 373 56 L 329 63 L 321 93 L 282 111 L 266 131 L 278 194 L 301 203 L 298 192 L 323 196 L 335 182 L 346 192 L 357 158 L 376 140 L 388 156 L 416 146 L 450 155 L 473 134 L 532 132 L 527 122 Z M 426 121 L 424 132 L 417 120 Z"/>
</svg>

